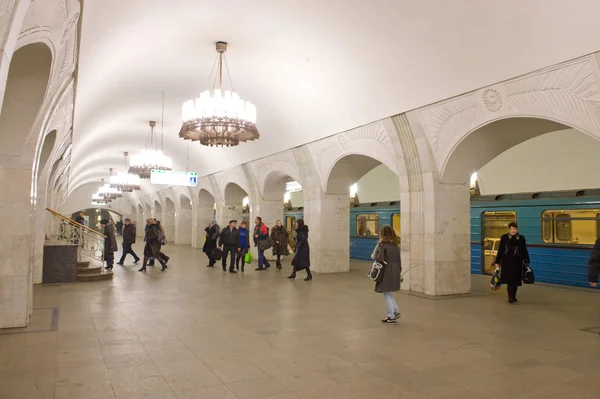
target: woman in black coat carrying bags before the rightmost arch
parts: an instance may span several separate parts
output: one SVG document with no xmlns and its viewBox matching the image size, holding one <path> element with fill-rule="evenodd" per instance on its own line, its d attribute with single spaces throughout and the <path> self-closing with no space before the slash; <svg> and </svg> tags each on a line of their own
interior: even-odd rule
<svg viewBox="0 0 600 399">
<path fill-rule="evenodd" d="M 496 267 L 500 269 L 500 282 L 506 284 L 508 302 L 517 302 L 517 289 L 523 279 L 523 269 L 529 266 L 529 252 L 525 237 L 518 233 L 515 222 L 508 224 L 508 233 L 500 238 Z"/>
</svg>

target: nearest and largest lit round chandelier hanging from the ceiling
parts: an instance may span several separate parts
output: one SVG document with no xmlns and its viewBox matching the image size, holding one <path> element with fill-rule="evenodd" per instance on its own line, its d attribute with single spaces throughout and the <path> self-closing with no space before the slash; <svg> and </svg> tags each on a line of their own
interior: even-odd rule
<svg viewBox="0 0 600 399">
<path fill-rule="evenodd" d="M 233 147 L 260 137 L 256 129 L 256 107 L 235 91 L 223 90 L 223 54 L 227 43 L 217 42 L 219 88 L 213 86 L 182 107 L 183 124 L 179 137 L 216 147 Z M 227 61 L 225 61 L 227 70 Z M 231 82 L 231 77 L 230 77 Z M 216 81 L 216 75 L 215 75 Z M 232 85 L 233 89 L 233 85 Z"/>
</svg>

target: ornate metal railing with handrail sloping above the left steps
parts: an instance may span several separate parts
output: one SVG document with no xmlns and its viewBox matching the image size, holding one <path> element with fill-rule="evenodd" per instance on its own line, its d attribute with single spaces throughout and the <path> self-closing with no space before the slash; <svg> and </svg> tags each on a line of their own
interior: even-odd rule
<svg viewBox="0 0 600 399">
<path fill-rule="evenodd" d="M 77 245 L 78 262 L 86 257 L 104 263 L 104 239 L 107 238 L 104 234 L 77 223 L 52 209 L 46 208 L 46 210 L 59 221 L 53 237 L 58 242 Z"/>
</svg>

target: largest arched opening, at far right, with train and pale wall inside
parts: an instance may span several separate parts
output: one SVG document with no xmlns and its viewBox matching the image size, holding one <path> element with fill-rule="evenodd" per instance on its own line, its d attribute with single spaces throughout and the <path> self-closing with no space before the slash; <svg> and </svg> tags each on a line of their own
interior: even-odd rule
<svg viewBox="0 0 600 399">
<path fill-rule="evenodd" d="M 554 141 L 544 141 L 550 137 Z M 551 143 L 556 140 L 562 143 L 562 148 L 555 146 L 555 151 L 551 151 Z M 530 144 L 533 142 L 537 145 Z M 472 199 L 470 213 L 466 215 L 454 209 L 467 208 L 467 204 L 448 204 L 452 206 L 447 210 L 453 210 L 453 219 L 465 219 L 460 225 L 466 225 L 468 220 L 471 226 L 477 226 L 469 232 L 469 242 L 461 245 L 470 245 L 471 254 L 470 262 L 462 266 L 462 273 L 467 267 L 472 273 L 492 273 L 497 242 L 508 231 L 508 224 L 516 221 L 530 245 L 537 280 L 587 285 L 589 246 L 600 237 L 596 216 L 598 206 L 586 205 L 590 201 L 581 196 L 576 198 L 575 191 L 554 191 L 600 187 L 597 179 L 588 182 L 592 187 L 572 186 L 573 181 L 585 181 L 578 179 L 578 175 L 589 173 L 597 159 L 597 155 L 588 157 L 586 163 L 584 150 L 588 148 L 577 151 L 573 148 L 576 142 L 600 150 L 600 140 L 585 137 L 585 133 L 564 124 L 540 118 L 508 118 L 469 132 L 456 145 L 442 170 L 442 181 L 463 184 L 472 172 L 481 170 L 486 187 L 495 191 L 493 197 Z M 526 151 L 520 148 L 526 148 Z M 572 174 L 564 169 L 571 170 Z M 494 187 L 502 187 L 503 192 Z M 544 187 L 551 187 L 552 192 L 543 192 Z M 524 192 L 536 194 L 513 196 L 513 193 Z M 466 195 L 460 198 L 465 203 L 469 201 Z M 512 198 L 519 199 L 509 202 Z M 553 205 L 544 198 L 557 198 L 555 201 L 558 202 Z M 438 217 L 445 216 L 436 214 Z M 569 250 L 557 248 L 557 245 L 567 245 Z M 546 262 L 550 258 L 555 259 L 551 266 Z"/>
</svg>

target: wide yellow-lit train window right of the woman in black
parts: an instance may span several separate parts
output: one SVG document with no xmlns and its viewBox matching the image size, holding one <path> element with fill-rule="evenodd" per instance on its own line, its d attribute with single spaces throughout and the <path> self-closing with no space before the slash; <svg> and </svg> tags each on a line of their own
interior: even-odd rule
<svg viewBox="0 0 600 399">
<path fill-rule="evenodd" d="M 542 213 L 544 242 L 571 245 L 594 244 L 600 230 L 599 212 L 598 209 L 544 211 Z"/>
</svg>

